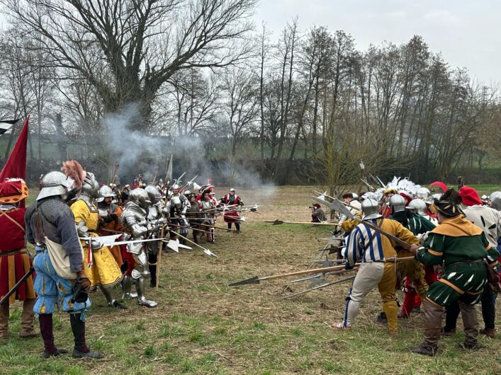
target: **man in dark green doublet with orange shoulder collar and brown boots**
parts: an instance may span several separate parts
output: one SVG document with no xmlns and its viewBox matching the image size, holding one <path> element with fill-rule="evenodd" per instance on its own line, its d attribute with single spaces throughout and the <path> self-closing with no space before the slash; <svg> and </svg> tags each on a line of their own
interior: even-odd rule
<svg viewBox="0 0 501 375">
<path fill-rule="evenodd" d="M 444 306 L 459 302 L 465 331 L 460 347 L 478 347 L 478 321 L 474 304 L 480 301 L 487 283 L 487 265 L 497 265 L 497 250 L 492 248 L 482 229 L 468 221 L 456 204 L 454 190 L 447 190 L 441 200 L 434 201 L 439 226 L 429 232 L 416 259 L 428 265 L 444 265 L 444 276 L 432 284 L 424 306 L 424 340 L 412 350 L 433 356 L 437 353 Z"/>
</svg>

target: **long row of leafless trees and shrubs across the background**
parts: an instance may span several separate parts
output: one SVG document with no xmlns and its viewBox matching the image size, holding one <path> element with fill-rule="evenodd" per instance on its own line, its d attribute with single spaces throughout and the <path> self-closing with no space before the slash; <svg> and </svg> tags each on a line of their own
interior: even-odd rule
<svg viewBox="0 0 501 375">
<path fill-rule="evenodd" d="M 230 166 L 252 159 L 276 183 L 450 180 L 501 156 L 497 88 L 419 35 L 364 51 L 346 31 L 297 20 L 273 35 L 250 22 L 255 0 L 0 4 L 11 25 L 0 115 L 31 114 L 31 158 L 47 157 L 48 139 L 62 155 L 74 142 L 111 165 L 106 114 L 131 103 L 128 131 L 219 139 L 208 154 L 219 147 Z"/>
</svg>

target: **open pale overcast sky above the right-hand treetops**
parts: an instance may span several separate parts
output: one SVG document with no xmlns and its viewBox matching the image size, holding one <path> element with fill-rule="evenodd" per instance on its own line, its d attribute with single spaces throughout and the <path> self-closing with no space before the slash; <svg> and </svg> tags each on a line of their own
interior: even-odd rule
<svg viewBox="0 0 501 375">
<path fill-rule="evenodd" d="M 501 0 L 261 0 L 255 20 L 257 29 L 266 21 L 275 39 L 295 16 L 301 30 L 318 25 L 350 33 L 358 50 L 422 35 L 451 67 L 501 83 Z"/>
</svg>

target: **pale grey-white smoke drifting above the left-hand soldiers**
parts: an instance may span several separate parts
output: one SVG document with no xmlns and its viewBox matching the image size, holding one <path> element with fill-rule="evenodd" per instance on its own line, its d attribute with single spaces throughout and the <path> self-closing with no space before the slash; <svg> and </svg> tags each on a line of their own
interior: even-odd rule
<svg viewBox="0 0 501 375">
<path fill-rule="evenodd" d="M 118 176 L 122 184 L 130 183 L 139 173 L 147 183 L 165 178 L 167 163 L 173 155 L 173 178 L 186 172 L 184 182 L 197 175 L 198 185 L 210 178 L 216 186 L 262 188 L 264 196 L 274 195 L 274 184 L 265 183 L 253 166 L 244 163 L 244 158 L 210 160 L 206 156 L 208 144 L 201 137 L 155 137 L 132 129 L 140 120 L 138 109 L 139 105 L 131 104 L 104 119 L 111 159 L 120 165 Z"/>
</svg>

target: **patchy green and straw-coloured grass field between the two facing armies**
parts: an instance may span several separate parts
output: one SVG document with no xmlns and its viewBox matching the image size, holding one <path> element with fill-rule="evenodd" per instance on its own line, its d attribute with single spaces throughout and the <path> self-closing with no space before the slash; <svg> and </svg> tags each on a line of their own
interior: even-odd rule
<svg viewBox="0 0 501 375">
<path fill-rule="evenodd" d="M 260 213 L 246 215 L 240 236 L 218 231 L 217 243 L 208 246 L 218 258 L 196 249 L 162 255 L 164 288 L 147 289 L 147 296 L 159 302 L 157 308 L 139 307 L 130 300 L 128 310 L 115 311 L 106 306 L 100 292 L 91 294 L 87 340 L 92 349 L 105 354 L 103 360 L 68 355 L 40 359 L 40 338 L 20 341 L 16 337 L 20 314 L 16 304 L 11 308 L 11 339 L 0 344 L 0 373 L 500 374 L 501 335 L 494 340 L 480 336 L 482 349 L 477 352 L 458 350 L 463 339 L 459 322 L 458 333 L 441 340 L 437 357 L 412 354 L 410 347 L 422 340 L 422 315 L 399 321 L 398 337 L 390 338 L 385 325 L 372 320 L 381 311 L 377 292 L 368 295 L 354 330 L 338 332 L 327 323 L 342 318 L 348 283 L 292 300 L 281 297 L 307 285 L 281 279 L 227 287 L 254 275 L 304 270 L 310 265 L 316 249 L 323 246 L 317 238 L 329 235 L 327 227 L 272 226 L 261 221 L 309 221 L 312 190 L 237 191 L 246 204 L 264 204 Z M 72 349 L 67 314 L 56 314 L 55 337 L 57 346 Z"/>
</svg>

